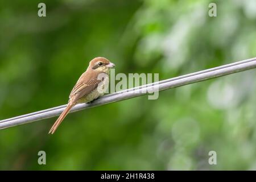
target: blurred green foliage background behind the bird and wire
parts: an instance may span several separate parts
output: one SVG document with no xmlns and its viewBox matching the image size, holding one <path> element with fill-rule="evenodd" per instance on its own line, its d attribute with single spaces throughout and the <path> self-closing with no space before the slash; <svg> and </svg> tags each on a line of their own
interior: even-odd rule
<svg viewBox="0 0 256 182">
<path fill-rule="evenodd" d="M 96 56 L 163 80 L 256 55 L 254 0 L 46 0 L 45 18 L 39 2 L 0 2 L 0 119 L 65 104 Z M 56 118 L 0 130 L 0 169 L 256 169 L 255 73 L 69 114 L 54 135 Z"/>
</svg>

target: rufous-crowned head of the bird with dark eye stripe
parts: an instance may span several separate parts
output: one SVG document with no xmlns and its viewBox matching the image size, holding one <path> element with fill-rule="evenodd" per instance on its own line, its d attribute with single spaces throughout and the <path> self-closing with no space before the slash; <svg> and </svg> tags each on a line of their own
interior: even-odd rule
<svg viewBox="0 0 256 182">
<path fill-rule="evenodd" d="M 114 68 L 114 67 L 115 67 L 115 64 L 111 63 L 105 57 L 95 57 L 92 61 L 90 61 L 90 64 L 87 70 L 109 73 L 110 68 Z"/>
</svg>

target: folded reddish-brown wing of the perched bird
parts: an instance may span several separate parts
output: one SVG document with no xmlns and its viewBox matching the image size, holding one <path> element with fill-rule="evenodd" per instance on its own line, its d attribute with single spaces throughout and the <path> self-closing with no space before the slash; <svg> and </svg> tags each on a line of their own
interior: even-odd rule
<svg viewBox="0 0 256 182">
<path fill-rule="evenodd" d="M 70 100 L 76 102 L 96 89 L 102 81 L 102 79 L 98 78 L 100 73 L 96 71 L 83 73 L 69 95 Z"/>
</svg>

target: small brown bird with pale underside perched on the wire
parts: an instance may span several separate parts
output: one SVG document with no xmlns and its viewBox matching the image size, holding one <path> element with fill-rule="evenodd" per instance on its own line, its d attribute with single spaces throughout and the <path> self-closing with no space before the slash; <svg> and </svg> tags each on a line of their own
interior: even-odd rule
<svg viewBox="0 0 256 182">
<path fill-rule="evenodd" d="M 67 107 L 65 107 L 59 118 L 57 118 L 56 122 L 51 127 L 51 130 L 49 130 L 49 134 L 55 133 L 57 127 L 60 126 L 60 123 L 73 106 L 79 103 L 91 102 L 105 94 L 109 85 L 110 69 L 114 67 L 115 64 L 105 57 L 95 57 L 90 61 L 88 68 L 82 73 L 69 94 Z"/>
</svg>

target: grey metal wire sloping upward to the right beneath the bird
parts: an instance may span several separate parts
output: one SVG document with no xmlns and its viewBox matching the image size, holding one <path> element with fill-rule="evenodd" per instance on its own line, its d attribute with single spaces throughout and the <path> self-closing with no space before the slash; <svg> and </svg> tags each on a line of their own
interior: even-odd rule
<svg viewBox="0 0 256 182">
<path fill-rule="evenodd" d="M 209 80 L 210 78 L 225 76 L 253 68 L 256 68 L 256 57 L 247 60 L 237 61 L 232 64 L 222 65 L 220 67 L 206 69 L 204 71 L 190 73 L 188 75 L 183 75 L 175 78 L 170 78 L 167 80 L 162 80 L 159 82 L 154 82 L 152 84 L 121 90 L 119 92 L 115 92 L 112 94 L 107 94 L 91 102 L 91 104 L 77 104 L 72 108 L 71 112 L 87 109 L 90 107 L 100 106 L 104 104 L 109 104 L 121 100 L 127 100 L 129 98 L 143 96 L 147 93 L 152 93 L 155 91 L 157 92 L 158 90 L 161 91 L 176 88 L 178 86 Z M 9 119 L 3 119 L 0 121 L 0 129 L 5 129 L 7 127 L 13 127 L 16 125 L 22 125 L 24 123 L 30 123 L 34 121 L 40 121 L 46 118 L 55 117 L 57 115 L 60 115 L 60 113 L 65 109 L 66 106 L 67 105 L 61 105 L 57 107 L 52 107 L 50 109 L 37 111 L 35 113 L 20 115 L 18 117 Z"/>
</svg>

